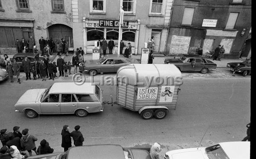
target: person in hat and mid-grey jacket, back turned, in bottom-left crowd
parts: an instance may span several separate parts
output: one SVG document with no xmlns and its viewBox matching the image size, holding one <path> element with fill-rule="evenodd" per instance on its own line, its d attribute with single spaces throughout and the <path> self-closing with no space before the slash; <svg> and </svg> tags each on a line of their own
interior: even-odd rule
<svg viewBox="0 0 256 159">
<path fill-rule="evenodd" d="M 29 129 L 24 129 L 22 131 L 22 138 L 20 139 L 20 146 L 23 149 L 26 149 L 29 152 L 29 156 L 32 156 L 32 150 L 35 151 L 35 154 L 38 154 L 36 152 L 36 147 L 35 147 L 35 141 L 38 139 L 29 134 Z"/>
</svg>

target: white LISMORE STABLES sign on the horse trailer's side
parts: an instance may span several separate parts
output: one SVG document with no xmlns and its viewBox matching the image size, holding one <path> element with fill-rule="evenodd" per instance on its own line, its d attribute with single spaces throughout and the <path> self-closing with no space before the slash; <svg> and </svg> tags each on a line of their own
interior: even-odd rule
<svg viewBox="0 0 256 159">
<path fill-rule="evenodd" d="M 143 99 L 148 99 L 148 100 L 155 100 L 157 99 L 157 87 L 150 87 L 150 88 L 145 88 L 145 87 L 139 87 L 137 91 L 137 99 L 138 100 L 143 100 Z"/>
</svg>

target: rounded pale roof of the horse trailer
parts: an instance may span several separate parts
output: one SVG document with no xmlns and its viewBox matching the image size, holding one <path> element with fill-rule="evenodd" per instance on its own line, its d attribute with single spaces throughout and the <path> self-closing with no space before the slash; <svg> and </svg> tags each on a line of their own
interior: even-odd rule
<svg viewBox="0 0 256 159">
<path fill-rule="evenodd" d="M 118 69 L 116 76 L 120 77 L 120 81 L 123 81 L 123 83 L 130 85 L 143 83 L 141 86 L 146 86 L 149 82 L 151 82 L 150 86 L 179 85 L 175 81 L 177 78 L 181 80 L 182 77 L 180 70 L 173 64 L 126 65 Z"/>
</svg>

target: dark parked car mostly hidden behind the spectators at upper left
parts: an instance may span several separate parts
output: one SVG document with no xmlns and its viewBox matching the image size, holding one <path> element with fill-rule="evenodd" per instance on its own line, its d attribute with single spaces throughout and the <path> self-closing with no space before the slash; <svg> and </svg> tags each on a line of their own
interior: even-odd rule
<svg viewBox="0 0 256 159">
<path fill-rule="evenodd" d="M 34 61 L 41 62 L 41 60 L 44 59 L 43 57 L 39 57 L 39 54 L 33 54 L 33 53 L 18 53 L 18 54 L 15 54 L 12 57 L 11 61 L 13 61 L 14 59 L 16 60 L 16 62 L 20 65 L 20 71 L 24 70 L 21 62 L 25 58 L 25 56 L 27 56 L 28 59 L 31 61 L 31 65 L 34 65 Z"/>
</svg>

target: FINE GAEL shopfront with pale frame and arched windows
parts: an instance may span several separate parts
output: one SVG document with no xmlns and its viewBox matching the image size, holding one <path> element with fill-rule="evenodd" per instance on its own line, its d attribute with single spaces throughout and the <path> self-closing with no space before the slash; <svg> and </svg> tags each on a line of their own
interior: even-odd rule
<svg viewBox="0 0 256 159">
<path fill-rule="evenodd" d="M 83 39 L 84 50 L 91 53 L 94 47 L 94 42 L 98 40 L 113 39 L 114 43 L 118 43 L 119 37 L 119 20 L 95 20 L 83 18 Z M 140 25 L 140 24 L 139 24 Z M 121 39 L 127 45 L 128 41 L 131 42 L 132 53 L 137 54 L 138 50 L 138 36 L 139 25 L 137 21 L 123 21 L 121 26 Z M 124 51 L 124 50 L 123 50 Z M 108 54 L 107 48 L 107 54 Z"/>
</svg>

